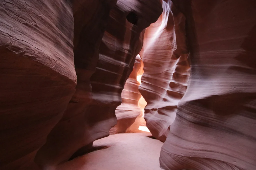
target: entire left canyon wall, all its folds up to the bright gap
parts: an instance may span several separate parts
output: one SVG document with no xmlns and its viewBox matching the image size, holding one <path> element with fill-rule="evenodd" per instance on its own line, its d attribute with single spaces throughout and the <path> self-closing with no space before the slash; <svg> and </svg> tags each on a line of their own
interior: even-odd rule
<svg viewBox="0 0 256 170">
<path fill-rule="evenodd" d="M 109 135 L 161 4 L 6 0 L 0 8 L 0 168 L 55 169 Z"/>
</svg>

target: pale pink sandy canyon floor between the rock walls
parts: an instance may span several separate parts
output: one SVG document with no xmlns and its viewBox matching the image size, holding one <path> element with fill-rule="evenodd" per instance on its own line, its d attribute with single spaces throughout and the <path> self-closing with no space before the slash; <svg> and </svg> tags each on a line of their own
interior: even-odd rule
<svg viewBox="0 0 256 170">
<path fill-rule="evenodd" d="M 150 132 L 115 134 L 93 142 L 93 152 L 59 165 L 58 170 L 158 170 L 163 143 Z"/>
</svg>

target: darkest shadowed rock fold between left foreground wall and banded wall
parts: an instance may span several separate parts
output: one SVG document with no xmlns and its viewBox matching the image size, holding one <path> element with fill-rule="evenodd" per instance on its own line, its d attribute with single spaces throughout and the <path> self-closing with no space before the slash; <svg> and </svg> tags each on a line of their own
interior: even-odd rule
<svg viewBox="0 0 256 170">
<path fill-rule="evenodd" d="M 95 140 L 91 137 L 95 132 L 90 125 L 92 121 L 87 110 L 88 103 L 92 101 L 90 78 L 97 65 L 99 46 L 110 9 L 115 3 L 116 0 L 87 0 L 73 3 L 76 92 L 62 119 L 52 129 L 46 144 L 37 153 L 35 161 L 44 168 L 55 168 L 59 163 L 67 161 L 80 148 L 81 151 L 85 150 L 87 147 L 84 146 L 90 146 Z M 80 153 L 74 156 L 77 154 Z"/>
</svg>

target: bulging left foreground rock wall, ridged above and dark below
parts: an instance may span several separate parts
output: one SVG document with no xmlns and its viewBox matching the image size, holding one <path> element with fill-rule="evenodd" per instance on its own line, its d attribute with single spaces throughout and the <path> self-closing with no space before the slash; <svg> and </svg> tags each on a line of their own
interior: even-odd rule
<svg viewBox="0 0 256 170">
<path fill-rule="evenodd" d="M 36 169 L 76 86 L 71 4 L 0 1 L 0 169 Z"/>
</svg>

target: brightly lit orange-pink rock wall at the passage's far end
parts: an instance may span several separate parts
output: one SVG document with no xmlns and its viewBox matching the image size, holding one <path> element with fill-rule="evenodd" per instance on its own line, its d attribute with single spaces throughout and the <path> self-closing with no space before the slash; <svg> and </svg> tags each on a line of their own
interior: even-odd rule
<svg viewBox="0 0 256 170">
<path fill-rule="evenodd" d="M 117 124 L 111 128 L 110 134 L 125 133 L 127 130 L 134 131 L 140 126 L 140 118 L 142 117 L 142 109 L 138 105 L 141 98 L 139 92 L 140 82 L 137 81 L 137 75 L 142 72 L 142 60 L 140 55 L 136 56 L 133 70 L 125 82 L 122 91 L 122 103 L 115 110 Z M 135 120 L 138 119 L 138 121 Z M 132 127 L 131 127 L 132 125 Z"/>
</svg>

